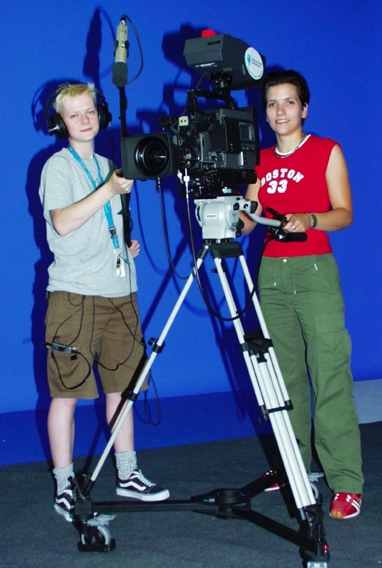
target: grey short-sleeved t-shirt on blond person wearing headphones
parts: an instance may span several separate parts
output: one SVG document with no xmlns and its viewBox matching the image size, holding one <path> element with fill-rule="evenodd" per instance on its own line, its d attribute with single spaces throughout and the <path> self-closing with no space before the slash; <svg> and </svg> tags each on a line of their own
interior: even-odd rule
<svg viewBox="0 0 382 568">
<path fill-rule="evenodd" d="M 103 180 L 113 173 L 113 164 L 96 154 Z M 89 173 L 97 180 L 96 160 L 84 160 Z M 40 200 L 47 222 L 47 243 L 55 256 L 48 268 L 47 290 L 64 290 L 83 295 L 119 297 L 137 290 L 137 276 L 130 251 L 123 239 L 123 219 L 120 196 L 111 199 L 113 224 L 116 226 L 119 246 L 123 251 L 125 276 L 117 275 L 116 254 L 103 208 L 75 231 L 60 236 L 50 217 L 52 209 L 60 209 L 84 199 L 94 191 L 82 165 L 67 148 L 52 155 L 43 168 Z"/>
</svg>

